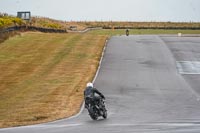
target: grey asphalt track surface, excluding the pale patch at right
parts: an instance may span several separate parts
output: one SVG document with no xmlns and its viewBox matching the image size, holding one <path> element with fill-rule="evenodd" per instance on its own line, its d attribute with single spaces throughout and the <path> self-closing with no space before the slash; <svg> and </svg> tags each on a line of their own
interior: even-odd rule
<svg viewBox="0 0 200 133">
<path fill-rule="evenodd" d="M 114 36 L 95 80 L 108 119 L 93 121 L 84 109 L 70 119 L 0 132 L 200 133 L 200 75 L 180 74 L 177 61 L 200 61 L 200 37 Z"/>
</svg>

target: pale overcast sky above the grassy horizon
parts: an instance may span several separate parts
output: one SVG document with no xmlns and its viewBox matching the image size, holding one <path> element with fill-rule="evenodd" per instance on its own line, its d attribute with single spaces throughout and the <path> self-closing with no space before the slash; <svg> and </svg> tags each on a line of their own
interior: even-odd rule
<svg viewBox="0 0 200 133">
<path fill-rule="evenodd" d="M 0 12 L 64 21 L 200 22 L 200 0 L 0 0 Z"/>
</svg>

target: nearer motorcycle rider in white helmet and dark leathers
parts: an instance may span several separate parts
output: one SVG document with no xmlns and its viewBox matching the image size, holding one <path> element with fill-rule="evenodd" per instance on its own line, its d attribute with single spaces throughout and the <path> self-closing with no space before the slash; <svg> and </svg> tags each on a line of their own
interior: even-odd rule
<svg viewBox="0 0 200 133">
<path fill-rule="evenodd" d="M 96 96 L 95 94 L 98 94 L 100 97 Z M 88 109 L 89 101 L 86 100 L 87 97 L 92 98 L 96 103 L 99 103 L 99 104 L 101 104 L 101 102 L 99 102 L 100 98 L 105 99 L 105 96 L 101 92 L 99 92 L 96 88 L 94 88 L 93 83 L 91 82 L 87 83 L 87 87 L 84 91 L 85 108 Z"/>
</svg>

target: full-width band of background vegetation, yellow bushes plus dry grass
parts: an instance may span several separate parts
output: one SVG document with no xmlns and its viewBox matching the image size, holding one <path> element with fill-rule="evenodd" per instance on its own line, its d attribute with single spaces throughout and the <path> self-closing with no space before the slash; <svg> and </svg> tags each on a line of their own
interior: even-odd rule
<svg viewBox="0 0 200 133">
<path fill-rule="evenodd" d="M 114 22 L 114 21 L 61 21 L 51 18 L 33 16 L 30 22 L 19 18 L 0 13 L 0 28 L 12 25 L 31 25 L 43 28 L 67 29 L 71 26 L 77 27 L 77 30 L 83 30 L 88 27 L 102 27 L 103 29 L 198 29 L 200 22 Z"/>
</svg>

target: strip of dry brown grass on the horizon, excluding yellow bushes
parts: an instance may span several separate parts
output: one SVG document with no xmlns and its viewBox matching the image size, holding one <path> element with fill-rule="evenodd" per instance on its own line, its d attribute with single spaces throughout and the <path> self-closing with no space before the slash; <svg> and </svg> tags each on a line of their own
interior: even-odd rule
<svg viewBox="0 0 200 133">
<path fill-rule="evenodd" d="M 61 29 L 70 29 L 70 26 L 76 26 L 77 30 L 83 30 L 88 27 L 103 27 L 103 28 L 200 28 L 200 23 L 195 22 L 125 22 L 125 21 L 58 21 L 49 18 L 33 17 L 32 25 L 45 27 L 48 24 L 58 24 Z M 45 24 L 45 25 L 44 25 Z"/>
</svg>

